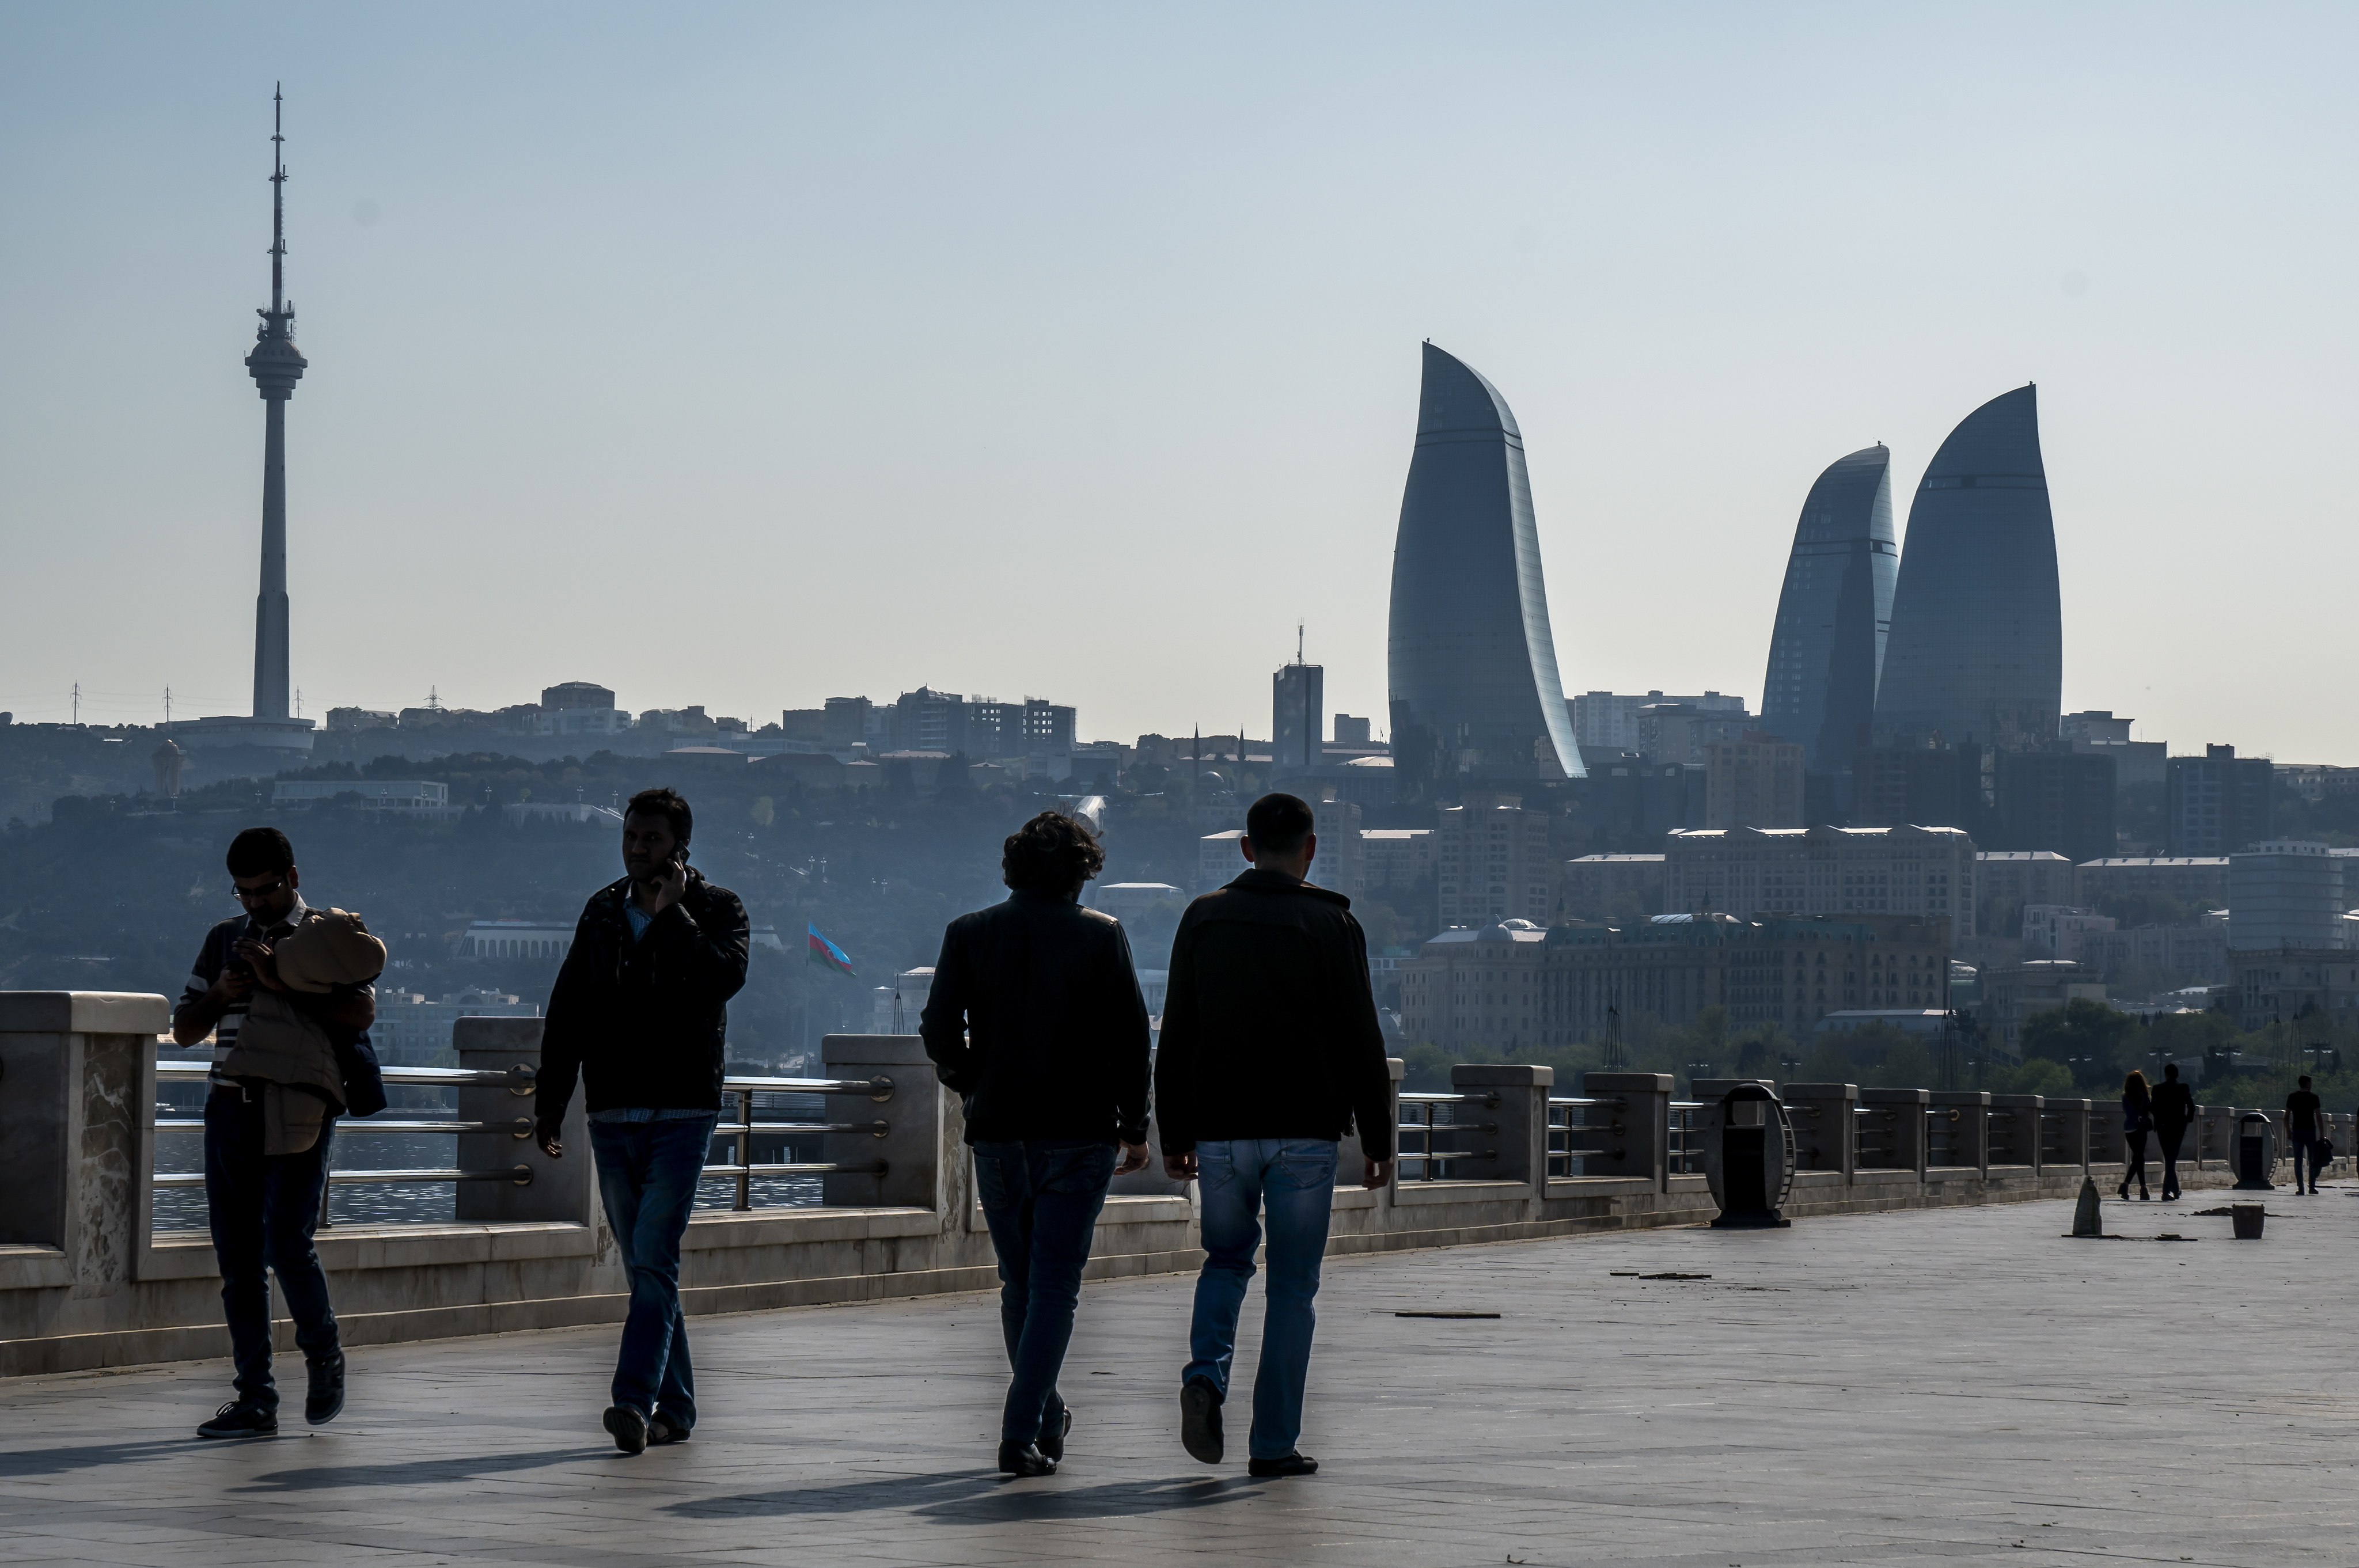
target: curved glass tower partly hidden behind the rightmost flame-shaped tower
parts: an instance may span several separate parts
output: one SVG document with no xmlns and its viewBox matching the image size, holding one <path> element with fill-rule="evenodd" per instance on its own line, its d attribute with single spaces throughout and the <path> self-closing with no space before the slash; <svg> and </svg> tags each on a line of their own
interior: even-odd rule
<svg viewBox="0 0 2359 1568">
<path fill-rule="evenodd" d="M 1798 743 L 1814 771 L 1849 766 L 1868 743 L 1897 571 L 1892 453 L 1878 443 L 1809 486 L 1769 634 L 1762 729 Z"/>
</svg>

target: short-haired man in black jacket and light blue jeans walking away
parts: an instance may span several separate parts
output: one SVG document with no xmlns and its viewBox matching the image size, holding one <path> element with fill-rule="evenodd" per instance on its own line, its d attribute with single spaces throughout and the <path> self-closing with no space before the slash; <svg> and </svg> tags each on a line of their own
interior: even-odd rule
<svg viewBox="0 0 2359 1568">
<path fill-rule="evenodd" d="M 1253 1375 L 1250 1471 L 1309 1476 L 1302 1386 L 1312 1361 L 1319 1259 L 1335 1205 L 1335 1146 L 1359 1125 L 1361 1186 L 1392 1179 L 1392 1073 L 1368 990 L 1368 938 L 1352 901 L 1307 882 L 1312 809 L 1264 795 L 1246 813 L 1253 870 L 1189 905 L 1172 941 L 1156 1118 L 1163 1170 L 1194 1177 L 1203 1273 L 1180 1372 L 1180 1438 L 1205 1464 L 1224 1452 L 1236 1316 L 1269 1214 L 1262 1363 Z"/>
</svg>

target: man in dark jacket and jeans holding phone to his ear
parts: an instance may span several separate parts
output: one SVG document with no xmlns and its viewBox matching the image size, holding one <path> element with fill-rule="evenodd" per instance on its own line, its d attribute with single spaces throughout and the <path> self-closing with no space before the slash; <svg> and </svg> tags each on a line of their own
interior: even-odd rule
<svg viewBox="0 0 2359 1568">
<path fill-rule="evenodd" d="M 729 997 L 745 983 L 745 905 L 689 870 L 694 825 L 672 790 L 630 797 L 625 877 L 583 908 L 540 1028 L 535 1137 L 552 1160 L 564 1155 L 578 1070 L 599 1198 L 630 1273 L 606 1410 L 606 1431 L 627 1455 L 696 1427 L 679 1238 L 722 1111 Z"/>
</svg>

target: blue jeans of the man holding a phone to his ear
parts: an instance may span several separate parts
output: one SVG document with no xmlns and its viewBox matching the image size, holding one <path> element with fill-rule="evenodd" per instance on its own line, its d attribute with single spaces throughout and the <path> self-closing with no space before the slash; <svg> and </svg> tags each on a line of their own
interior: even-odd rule
<svg viewBox="0 0 2359 1568">
<path fill-rule="evenodd" d="M 590 1122 L 597 1191 L 623 1269 L 630 1316 L 613 1363 L 613 1403 L 663 1415 L 675 1431 L 696 1427 L 696 1370 L 679 1316 L 679 1238 L 696 1210 L 696 1179 L 719 1113 L 665 1122 Z"/>
</svg>

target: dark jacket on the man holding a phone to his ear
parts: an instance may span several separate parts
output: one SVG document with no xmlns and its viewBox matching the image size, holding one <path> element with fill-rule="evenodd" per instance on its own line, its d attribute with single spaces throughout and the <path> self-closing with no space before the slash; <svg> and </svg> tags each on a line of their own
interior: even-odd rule
<svg viewBox="0 0 2359 1568">
<path fill-rule="evenodd" d="M 602 887 L 573 927 L 573 948 L 540 1026 L 533 1113 L 554 1122 L 573 1073 L 592 1111 L 719 1111 L 729 997 L 745 983 L 745 905 L 689 870 L 689 891 L 632 941 L 630 877 Z"/>
</svg>

